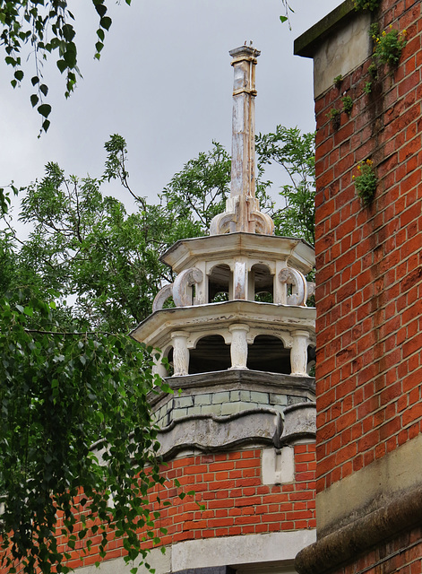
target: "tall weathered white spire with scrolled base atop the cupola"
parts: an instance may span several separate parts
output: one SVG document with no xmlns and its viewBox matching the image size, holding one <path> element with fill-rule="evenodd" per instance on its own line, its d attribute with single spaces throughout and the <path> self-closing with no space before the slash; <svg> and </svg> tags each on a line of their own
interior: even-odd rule
<svg viewBox="0 0 422 574">
<path fill-rule="evenodd" d="M 210 235 L 245 231 L 271 235 L 271 217 L 260 212 L 255 197 L 255 65 L 261 54 L 256 48 L 241 46 L 229 52 L 233 57 L 233 123 L 231 187 L 226 211 L 211 222 Z"/>
</svg>

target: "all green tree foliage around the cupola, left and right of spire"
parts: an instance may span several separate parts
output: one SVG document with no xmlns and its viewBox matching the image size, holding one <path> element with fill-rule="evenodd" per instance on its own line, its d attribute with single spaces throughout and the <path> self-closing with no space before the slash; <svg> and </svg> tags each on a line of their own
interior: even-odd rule
<svg viewBox="0 0 422 574">
<path fill-rule="evenodd" d="M 219 143 L 188 161 L 156 204 L 129 186 L 125 139 L 113 135 L 105 147 L 99 178 L 48 163 L 22 197 L 28 239 L 13 222 L 0 234 L 0 534 L 11 572 L 19 561 L 30 574 L 65 572 L 68 552 L 80 540 L 89 552 L 102 527 L 124 537 L 127 560 L 144 557 L 139 528 L 152 536 L 156 517 L 145 497 L 162 480 L 146 395 L 168 387 L 151 375 L 151 350 L 125 333 L 173 281 L 159 256 L 203 235 L 228 196 L 230 161 Z M 297 129 L 257 137 L 257 195 L 279 234 L 314 237 L 313 149 L 313 136 Z M 272 161 L 290 178 L 280 209 L 264 179 Z M 102 194 L 106 181 L 132 196 L 133 213 Z M 62 529 L 68 547 L 57 545 Z M 101 555 L 106 546 L 104 534 Z"/>
</svg>

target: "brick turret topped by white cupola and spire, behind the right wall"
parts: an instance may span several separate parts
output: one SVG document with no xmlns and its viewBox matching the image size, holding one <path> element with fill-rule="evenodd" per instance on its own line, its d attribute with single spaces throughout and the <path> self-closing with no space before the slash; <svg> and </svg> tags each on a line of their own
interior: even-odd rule
<svg viewBox="0 0 422 574">
<path fill-rule="evenodd" d="M 313 308 L 305 274 L 314 250 L 273 235 L 255 198 L 254 69 L 234 67 L 231 189 L 208 237 L 182 239 L 162 260 L 177 273 L 133 337 L 160 349 L 175 395 L 153 398 L 163 473 L 194 500 L 161 489 L 167 548 L 158 574 L 293 572 L 314 541 Z M 172 297 L 175 307 L 164 309 Z M 268 301 L 268 302 L 265 302 Z M 197 503 L 204 506 L 201 510 Z"/>
</svg>

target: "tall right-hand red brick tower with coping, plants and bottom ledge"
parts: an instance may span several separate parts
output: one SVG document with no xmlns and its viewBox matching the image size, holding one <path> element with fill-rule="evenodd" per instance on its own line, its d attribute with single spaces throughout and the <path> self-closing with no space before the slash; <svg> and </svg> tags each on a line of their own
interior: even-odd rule
<svg viewBox="0 0 422 574">
<path fill-rule="evenodd" d="M 422 572 L 421 3 L 369 4 L 295 45 L 317 121 L 317 542 L 301 574 Z"/>
</svg>

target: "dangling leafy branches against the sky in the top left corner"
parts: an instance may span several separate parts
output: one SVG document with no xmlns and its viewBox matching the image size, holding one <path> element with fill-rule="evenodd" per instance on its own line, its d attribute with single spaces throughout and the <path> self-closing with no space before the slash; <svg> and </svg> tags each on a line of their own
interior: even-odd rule
<svg viewBox="0 0 422 574">
<path fill-rule="evenodd" d="M 131 0 L 125 0 L 130 4 Z M 111 26 L 106 0 L 92 0 L 92 8 L 99 18 L 95 57 L 99 59 L 106 32 Z M 34 92 L 32 107 L 42 117 L 42 129 L 47 132 L 51 106 L 45 101 L 48 86 L 43 82 L 42 65 L 49 57 L 65 74 L 65 97 L 72 93 L 80 71 L 78 68 L 73 13 L 67 0 L 0 0 L 0 44 L 4 61 L 13 67 L 12 85 L 15 88 L 24 77 L 23 64 L 27 57 L 34 61 L 30 82 Z"/>
</svg>

